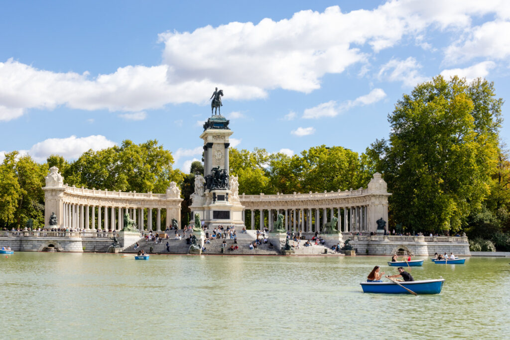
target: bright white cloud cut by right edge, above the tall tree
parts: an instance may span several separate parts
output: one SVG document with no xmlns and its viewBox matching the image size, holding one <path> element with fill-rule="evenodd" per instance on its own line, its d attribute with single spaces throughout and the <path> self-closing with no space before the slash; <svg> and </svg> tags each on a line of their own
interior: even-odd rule
<svg viewBox="0 0 510 340">
<path fill-rule="evenodd" d="M 509 31 L 509 21 L 486 22 L 469 30 L 465 36 L 448 46 L 445 51 L 445 59 L 447 62 L 456 62 L 477 57 L 508 58 L 510 56 L 510 35 L 507 32 Z"/>
</svg>

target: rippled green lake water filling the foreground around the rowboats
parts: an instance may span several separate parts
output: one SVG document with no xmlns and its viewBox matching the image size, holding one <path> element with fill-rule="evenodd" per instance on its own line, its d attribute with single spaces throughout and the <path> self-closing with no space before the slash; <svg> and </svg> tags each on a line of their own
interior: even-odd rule
<svg viewBox="0 0 510 340">
<path fill-rule="evenodd" d="M 22 253 L 0 259 L 2 338 L 508 338 L 510 258 L 413 267 L 440 295 L 364 294 L 389 257 Z"/>
</svg>

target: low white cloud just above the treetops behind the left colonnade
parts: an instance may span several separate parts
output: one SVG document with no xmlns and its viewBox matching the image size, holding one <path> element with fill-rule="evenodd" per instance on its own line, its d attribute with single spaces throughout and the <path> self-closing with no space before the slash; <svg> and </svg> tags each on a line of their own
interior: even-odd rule
<svg viewBox="0 0 510 340">
<path fill-rule="evenodd" d="M 46 158 L 51 154 L 59 154 L 65 159 L 77 159 L 82 153 L 90 149 L 97 151 L 114 145 L 114 142 L 101 135 L 81 138 L 77 138 L 76 136 L 68 138 L 49 138 L 34 144 L 30 150 L 28 150 L 28 154 L 37 162 L 46 161 Z"/>
</svg>

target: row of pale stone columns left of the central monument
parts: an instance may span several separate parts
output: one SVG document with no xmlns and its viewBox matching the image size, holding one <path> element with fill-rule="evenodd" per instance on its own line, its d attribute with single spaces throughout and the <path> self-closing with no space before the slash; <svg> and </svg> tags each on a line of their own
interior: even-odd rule
<svg viewBox="0 0 510 340">
<path fill-rule="evenodd" d="M 162 208 L 128 208 L 63 202 L 63 226 L 73 230 L 120 231 L 124 227 L 124 213 L 127 213 L 137 223 L 140 231 L 152 230 L 152 210 L 156 210 L 156 231 L 162 231 Z"/>
</svg>

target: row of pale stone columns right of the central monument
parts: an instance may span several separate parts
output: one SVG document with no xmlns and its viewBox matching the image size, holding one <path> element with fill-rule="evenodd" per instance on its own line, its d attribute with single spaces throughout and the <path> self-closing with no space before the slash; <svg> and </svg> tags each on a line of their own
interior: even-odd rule
<svg viewBox="0 0 510 340">
<path fill-rule="evenodd" d="M 246 213 L 248 212 L 248 214 Z M 342 232 L 368 231 L 368 206 L 342 206 L 328 208 L 291 208 L 291 209 L 257 209 L 244 210 L 243 222 L 251 229 L 274 230 L 278 214 L 285 216 L 284 226 L 287 231 L 315 232 L 330 222 L 333 216 L 338 218 L 336 229 Z M 249 215 L 250 221 L 246 221 Z M 259 223 L 255 225 L 256 216 Z"/>
</svg>

